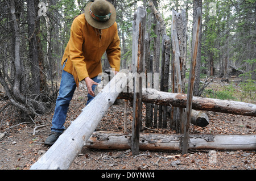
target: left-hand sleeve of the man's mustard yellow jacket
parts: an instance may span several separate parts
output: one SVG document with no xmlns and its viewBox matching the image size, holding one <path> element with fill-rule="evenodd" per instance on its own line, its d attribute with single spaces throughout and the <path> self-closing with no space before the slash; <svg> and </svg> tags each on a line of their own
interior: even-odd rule
<svg viewBox="0 0 256 181">
<path fill-rule="evenodd" d="M 79 19 L 74 19 L 71 26 L 71 36 L 69 39 L 69 56 L 74 66 L 73 75 L 77 74 L 79 81 L 82 81 L 86 77 L 89 77 L 86 69 L 85 57 L 82 54 L 82 26 Z M 74 72 L 75 71 L 75 72 Z"/>
</svg>

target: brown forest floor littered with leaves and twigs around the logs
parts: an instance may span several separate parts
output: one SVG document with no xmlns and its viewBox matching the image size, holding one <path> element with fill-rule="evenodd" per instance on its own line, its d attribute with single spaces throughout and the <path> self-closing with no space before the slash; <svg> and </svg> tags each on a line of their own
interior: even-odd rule
<svg viewBox="0 0 256 181">
<path fill-rule="evenodd" d="M 221 87 L 221 81 L 216 81 Z M 0 110 L 7 100 L 0 99 Z M 86 89 L 75 91 L 69 107 L 67 128 L 71 121 L 81 113 L 86 103 Z M 254 102 L 255 104 L 255 102 Z M 13 115 L 14 108 L 6 108 L 0 113 L 0 170 L 28 170 L 38 161 L 49 146 L 43 144 L 50 133 L 54 106 L 43 116 L 35 117 L 35 124 L 23 123 Z M 128 131 L 131 132 L 132 107 L 128 108 Z M 201 128 L 191 125 L 192 134 L 256 134 L 256 117 L 231 115 L 205 111 L 210 123 Z M 123 104 L 114 104 L 102 117 L 96 131 L 123 131 Z M 144 110 L 143 110 L 144 115 Z M 144 119 L 144 118 L 143 118 Z M 155 128 L 152 128 L 155 129 Z M 143 132 L 156 133 L 148 129 Z M 173 134 L 170 129 L 157 129 L 157 133 Z M 210 161 L 210 150 L 180 151 L 139 151 L 132 155 L 131 150 L 96 150 L 84 147 L 77 155 L 69 170 L 255 170 L 256 152 L 245 150 L 216 150 L 216 160 Z"/>
</svg>

